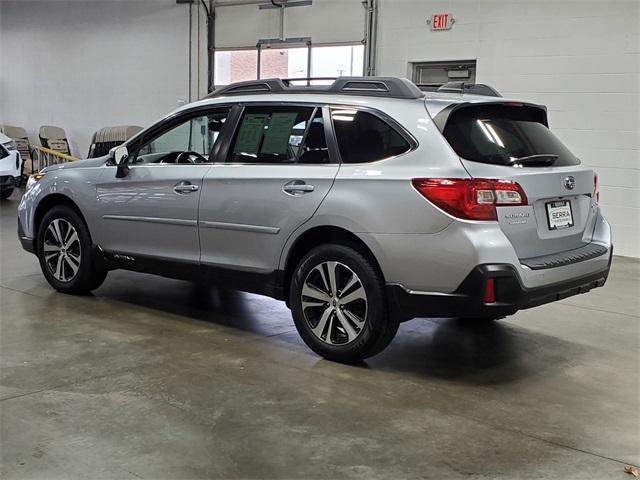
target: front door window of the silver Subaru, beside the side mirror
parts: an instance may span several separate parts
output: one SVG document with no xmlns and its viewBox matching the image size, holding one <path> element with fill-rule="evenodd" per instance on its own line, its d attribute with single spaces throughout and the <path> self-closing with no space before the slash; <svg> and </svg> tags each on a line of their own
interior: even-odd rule
<svg viewBox="0 0 640 480">
<path fill-rule="evenodd" d="M 143 143 L 133 164 L 212 163 L 213 146 L 231 108 L 225 107 L 191 117 Z"/>
</svg>

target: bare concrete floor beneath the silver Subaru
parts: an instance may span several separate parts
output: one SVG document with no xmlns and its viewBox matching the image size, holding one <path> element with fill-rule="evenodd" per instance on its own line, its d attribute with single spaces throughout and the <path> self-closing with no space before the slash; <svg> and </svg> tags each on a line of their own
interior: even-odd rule
<svg viewBox="0 0 640 480">
<path fill-rule="evenodd" d="M 413 320 L 360 366 L 277 301 L 112 272 L 55 293 L 0 206 L 0 477 L 628 478 L 640 264 L 490 325 Z"/>
</svg>

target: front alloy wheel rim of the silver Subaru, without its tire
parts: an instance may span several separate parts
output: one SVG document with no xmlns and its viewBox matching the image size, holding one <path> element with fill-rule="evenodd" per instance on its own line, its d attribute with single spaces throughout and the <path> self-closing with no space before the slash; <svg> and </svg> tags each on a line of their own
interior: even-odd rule
<svg viewBox="0 0 640 480">
<path fill-rule="evenodd" d="M 44 236 L 43 254 L 56 280 L 70 282 L 80 270 L 82 247 L 76 229 L 63 218 L 53 220 Z"/>
</svg>

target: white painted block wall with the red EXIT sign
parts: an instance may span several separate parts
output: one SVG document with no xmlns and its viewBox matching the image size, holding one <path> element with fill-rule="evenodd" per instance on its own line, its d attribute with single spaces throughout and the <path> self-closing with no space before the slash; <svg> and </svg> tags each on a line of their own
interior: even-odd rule
<svg viewBox="0 0 640 480">
<path fill-rule="evenodd" d="M 477 81 L 549 108 L 552 130 L 599 174 L 616 253 L 640 256 L 637 0 L 380 0 L 378 73 L 477 59 Z M 426 20 L 452 13 L 448 32 Z"/>
</svg>

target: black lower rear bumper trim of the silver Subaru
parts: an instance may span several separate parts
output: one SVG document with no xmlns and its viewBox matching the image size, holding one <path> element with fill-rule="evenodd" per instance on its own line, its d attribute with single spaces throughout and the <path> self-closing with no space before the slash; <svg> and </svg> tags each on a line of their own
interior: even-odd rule
<svg viewBox="0 0 640 480">
<path fill-rule="evenodd" d="M 392 314 L 404 320 L 416 317 L 504 317 L 603 286 L 609 275 L 611 258 L 612 249 L 606 268 L 536 288 L 523 286 L 512 265 L 487 264 L 474 268 L 452 293 L 415 292 L 397 284 L 388 284 L 387 298 Z M 495 302 L 485 303 L 484 289 L 489 278 L 495 282 Z"/>
</svg>

